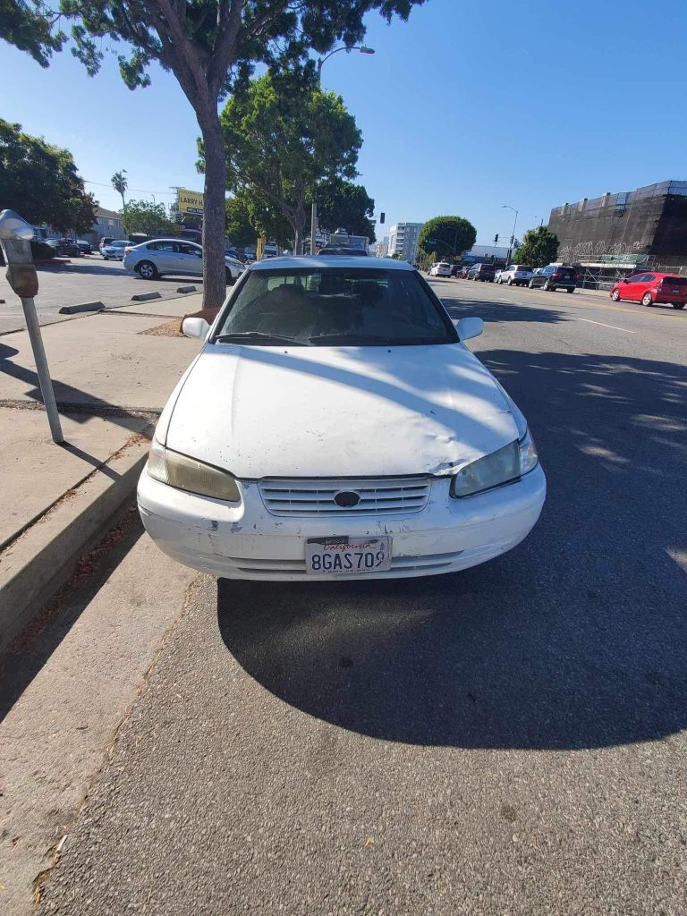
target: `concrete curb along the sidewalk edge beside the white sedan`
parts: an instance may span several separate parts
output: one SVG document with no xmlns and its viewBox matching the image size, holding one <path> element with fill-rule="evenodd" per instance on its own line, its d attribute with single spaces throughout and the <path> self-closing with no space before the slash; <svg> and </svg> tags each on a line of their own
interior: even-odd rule
<svg viewBox="0 0 687 916">
<path fill-rule="evenodd" d="M 133 499 L 146 463 L 148 442 L 125 446 L 62 496 L 35 525 L 0 555 L 0 652 L 38 616 L 66 583 L 82 553 L 112 518 Z"/>
</svg>

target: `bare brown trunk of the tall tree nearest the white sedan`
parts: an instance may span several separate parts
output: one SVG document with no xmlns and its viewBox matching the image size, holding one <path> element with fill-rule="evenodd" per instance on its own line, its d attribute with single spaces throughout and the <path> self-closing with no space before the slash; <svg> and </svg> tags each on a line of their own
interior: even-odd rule
<svg viewBox="0 0 687 916">
<path fill-rule="evenodd" d="M 217 114 L 198 119 L 205 154 L 205 197 L 202 214 L 202 307 L 216 309 L 226 298 L 224 224 L 226 152 Z"/>
</svg>

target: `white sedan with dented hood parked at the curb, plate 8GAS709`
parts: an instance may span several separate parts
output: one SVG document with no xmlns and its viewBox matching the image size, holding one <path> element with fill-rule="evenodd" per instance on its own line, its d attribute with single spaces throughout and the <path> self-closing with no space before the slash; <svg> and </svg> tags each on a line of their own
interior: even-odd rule
<svg viewBox="0 0 687 916">
<path fill-rule="evenodd" d="M 252 265 L 160 416 L 138 507 L 161 550 L 229 579 L 451 573 L 515 547 L 546 480 L 527 422 L 417 270 Z"/>
</svg>

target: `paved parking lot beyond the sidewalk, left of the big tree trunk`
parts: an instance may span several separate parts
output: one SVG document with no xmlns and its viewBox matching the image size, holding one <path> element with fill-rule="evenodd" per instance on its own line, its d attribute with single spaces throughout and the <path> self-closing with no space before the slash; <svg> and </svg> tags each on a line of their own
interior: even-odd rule
<svg viewBox="0 0 687 916">
<path fill-rule="evenodd" d="M 83 302 L 103 302 L 107 308 L 125 305 L 139 292 L 175 294 L 178 286 L 193 284 L 202 290 L 202 277 L 161 277 L 142 280 L 129 273 L 121 261 L 105 261 L 100 255 L 71 258 L 69 264 L 59 267 L 38 268 L 38 296 L 36 311 L 41 324 L 63 321 L 60 309 L 64 305 Z M 5 279 L 5 269 L 0 271 L 0 333 L 26 327 L 21 301 Z"/>
</svg>

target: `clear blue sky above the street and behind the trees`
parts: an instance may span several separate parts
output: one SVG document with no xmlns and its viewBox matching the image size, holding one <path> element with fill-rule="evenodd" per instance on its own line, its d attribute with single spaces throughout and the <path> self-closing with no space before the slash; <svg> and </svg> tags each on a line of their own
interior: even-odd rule
<svg viewBox="0 0 687 916">
<path fill-rule="evenodd" d="M 359 180 L 387 226 L 458 213 L 487 244 L 511 232 L 504 203 L 521 235 L 560 203 L 687 179 L 683 0 L 428 0 L 408 23 L 367 25 L 376 54 L 335 55 L 322 83 L 363 131 Z M 47 71 L 2 54 L 0 116 L 69 147 L 104 206 L 119 204 L 117 169 L 131 196 L 202 188 L 198 127 L 169 74 L 132 93 L 112 57 L 89 79 L 69 53 Z"/>
</svg>

